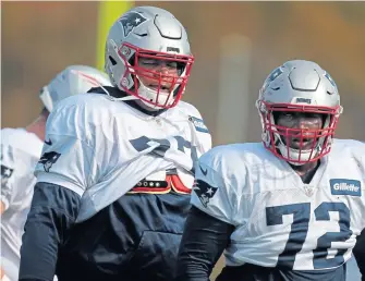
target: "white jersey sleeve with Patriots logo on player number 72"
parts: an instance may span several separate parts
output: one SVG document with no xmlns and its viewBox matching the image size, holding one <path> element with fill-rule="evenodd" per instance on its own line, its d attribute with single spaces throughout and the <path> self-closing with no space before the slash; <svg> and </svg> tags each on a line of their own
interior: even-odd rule
<svg viewBox="0 0 365 281">
<path fill-rule="evenodd" d="M 191 201 L 202 211 L 234 225 L 238 196 L 224 171 L 224 161 L 219 158 L 217 149 L 199 158 Z"/>
</svg>

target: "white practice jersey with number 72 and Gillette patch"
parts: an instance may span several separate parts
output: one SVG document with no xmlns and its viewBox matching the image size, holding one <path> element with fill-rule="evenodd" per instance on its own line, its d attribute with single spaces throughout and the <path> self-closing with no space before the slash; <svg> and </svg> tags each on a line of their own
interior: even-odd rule
<svg viewBox="0 0 365 281">
<path fill-rule="evenodd" d="M 365 228 L 361 142 L 334 139 L 309 184 L 260 143 L 216 147 L 198 166 L 192 204 L 235 227 L 228 266 L 336 268 Z"/>
</svg>

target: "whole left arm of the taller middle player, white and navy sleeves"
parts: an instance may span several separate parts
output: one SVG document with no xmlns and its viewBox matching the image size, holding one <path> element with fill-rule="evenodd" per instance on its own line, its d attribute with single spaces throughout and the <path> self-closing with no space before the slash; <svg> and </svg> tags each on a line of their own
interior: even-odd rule
<svg viewBox="0 0 365 281">
<path fill-rule="evenodd" d="M 82 109 L 72 107 L 53 110 L 47 121 L 47 143 L 36 166 L 37 184 L 22 237 L 22 281 L 53 280 L 59 248 L 68 240 L 81 197 L 93 181 L 94 150 L 75 122 L 78 114 Z"/>
</svg>

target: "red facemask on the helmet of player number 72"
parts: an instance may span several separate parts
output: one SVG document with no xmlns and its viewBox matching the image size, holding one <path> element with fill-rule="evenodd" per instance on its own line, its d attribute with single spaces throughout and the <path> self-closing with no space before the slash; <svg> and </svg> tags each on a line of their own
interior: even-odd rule
<svg viewBox="0 0 365 281">
<path fill-rule="evenodd" d="M 257 101 L 263 124 L 263 142 L 267 149 L 288 162 L 301 166 L 313 162 L 329 154 L 331 140 L 338 124 L 342 107 L 336 108 L 304 106 L 292 103 L 270 105 L 263 100 Z M 276 112 L 308 112 L 324 114 L 323 127 L 318 130 L 289 129 L 277 125 Z M 297 148 L 289 146 L 290 138 L 299 140 Z M 304 149 L 305 142 L 313 142 L 309 148 Z"/>
</svg>

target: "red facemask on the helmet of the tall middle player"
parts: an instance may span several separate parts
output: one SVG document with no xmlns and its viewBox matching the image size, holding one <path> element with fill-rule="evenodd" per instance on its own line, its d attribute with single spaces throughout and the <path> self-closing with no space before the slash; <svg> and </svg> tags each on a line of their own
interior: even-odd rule
<svg viewBox="0 0 365 281">
<path fill-rule="evenodd" d="M 192 56 L 174 54 L 169 52 L 156 52 L 123 44 L 118 54 L 124 62 L 125 72 L 120 81 L 121 88 L 149 107 L 172 108 L 181 99 L 194 63 Z M 174 62 L 178 64 L 178 75 L 170 75 L 149 70 L 138 65 L 141 58 L 158 61 Z M 144 85 L 141 77 L 154 81 L 154 88 Z M 166 87 L 168 85 L 168 87 Z"/>
</svg>

